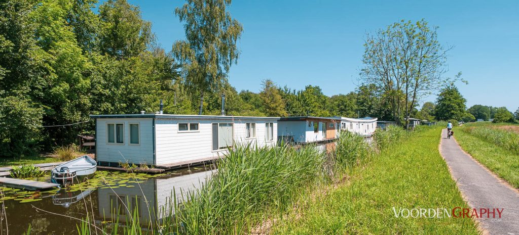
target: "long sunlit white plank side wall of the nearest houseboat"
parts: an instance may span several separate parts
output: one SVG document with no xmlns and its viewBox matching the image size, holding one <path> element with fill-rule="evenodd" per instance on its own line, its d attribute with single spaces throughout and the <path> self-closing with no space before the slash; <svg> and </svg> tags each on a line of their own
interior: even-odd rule
<svg viewBox="0 0 519 235">
<path fill-rule="evenodd" d="M 199 123 L 198 131 L 182 132 L 178 123 Z M 256 123 L 256 137 L 245 138 L 245 123 Z M 274 123 L 274 140 L 265 141 L 265 123 Z M 259 146 L 275 145 L 277 142 L 277 121 L 254 119 L 157 119 L 156 120 L 156 158 L 157 165 L 179 163 L 209 157 L 223 156 L 227 150 L 212 150 L 212 123 L 233 123 L 234 140 L 237 143 L 252 142 Z"/>
</svg>

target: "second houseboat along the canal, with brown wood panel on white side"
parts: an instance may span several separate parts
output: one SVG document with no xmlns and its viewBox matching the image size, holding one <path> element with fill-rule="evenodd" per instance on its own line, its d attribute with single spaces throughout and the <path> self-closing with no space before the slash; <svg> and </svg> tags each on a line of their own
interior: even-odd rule
<svg viewBox="0 0 519 235">
<path fill-rule="evenodd" d="M 339 123 L 338 117 L 281 117 L 278 121 L 278 136 L 285 142 L 330 142 L 337 139 Z"/>
</svg>

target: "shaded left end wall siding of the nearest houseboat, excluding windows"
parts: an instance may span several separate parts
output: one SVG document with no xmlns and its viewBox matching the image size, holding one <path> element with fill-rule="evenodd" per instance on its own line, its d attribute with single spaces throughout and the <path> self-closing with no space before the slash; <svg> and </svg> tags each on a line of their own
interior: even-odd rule
<svg viewBox="0 0 519 235">
<path fill-rule="evenodd" d="M 107 124 L 124 124 L 124 143 L 108 143 Z M 138 145 L 130 145 L 129 123 L 139 124 L 140 140 Z M 154 165 L 153 159 L 153 119 L 96 119 L 96 146 L 97 161 L 119 163 L 125 160 L 128 163 Z"/>
</svg>

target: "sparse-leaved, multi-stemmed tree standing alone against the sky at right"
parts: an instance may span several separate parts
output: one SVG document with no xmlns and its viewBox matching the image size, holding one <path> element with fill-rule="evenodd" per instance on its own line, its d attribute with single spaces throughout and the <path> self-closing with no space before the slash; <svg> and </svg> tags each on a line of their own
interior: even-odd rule
<svg viewBox="0 0 519 235">
<path fill-rule="evenodd" d="M 361 78 L 383 91 L 391 115 L 399 123 L 424 95 L 459 79 L 460 75 L 442 77 L 451 48 L 440 45 L 437 28 L 430 28 L 424 19 L 416 23 L 402 20 L 366 35 Z"/>
</svg>

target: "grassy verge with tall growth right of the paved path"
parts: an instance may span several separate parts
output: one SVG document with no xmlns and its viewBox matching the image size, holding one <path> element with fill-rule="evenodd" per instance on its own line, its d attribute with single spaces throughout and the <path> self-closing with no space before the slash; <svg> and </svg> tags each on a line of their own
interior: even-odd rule
<svg viewBox="0 0 519 235">
<path fill-rule="evenodd" d="M 500 126 L 504 125 L 490 123 L 464 125 L 456 131 L 455 138 L 465 152 L 512 186 L 519 188 L 519 153 L 509 147 L 512 144 L 506 143 L 506 139 L 498 140 L 498 136 L 516 135 L 516 139 L 511 142 L 519 141 L 519 135 L 502 134 L 506 130 L 496 128 Z"/>
</svg>

